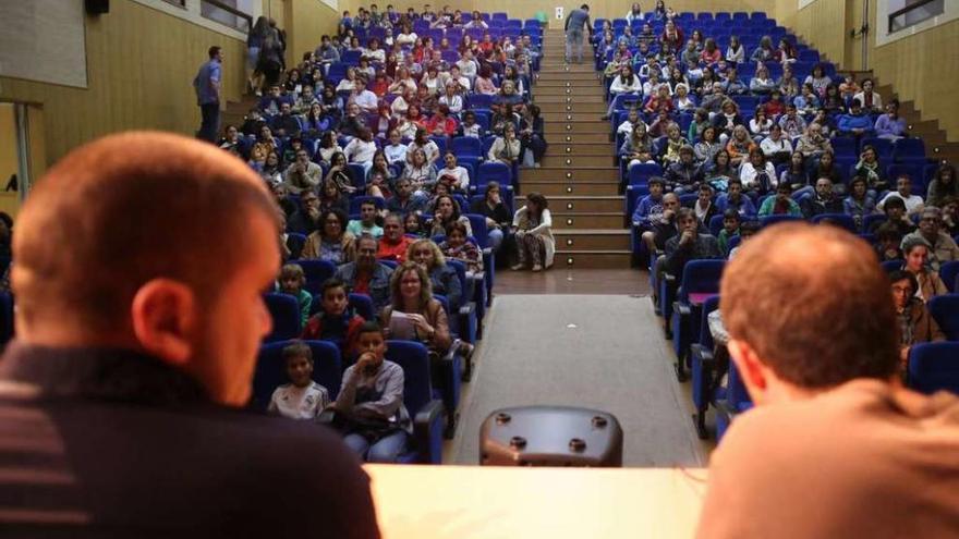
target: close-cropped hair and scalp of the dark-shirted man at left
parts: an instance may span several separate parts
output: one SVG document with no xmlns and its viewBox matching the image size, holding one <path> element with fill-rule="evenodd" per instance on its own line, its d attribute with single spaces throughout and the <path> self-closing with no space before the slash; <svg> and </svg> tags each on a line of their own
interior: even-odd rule
<svg viewBox="0 0 959 539">
<path fill-rule="evenodd" d="M 243 256 L 256 211 L 276 220 L 259 177 L 215 146 L 161 133 L 108 136 L 75 149 L 37 183 L 13 238 L 19 323 L 131 332 L 146 282 L 215 295 Z"/>
</svg>

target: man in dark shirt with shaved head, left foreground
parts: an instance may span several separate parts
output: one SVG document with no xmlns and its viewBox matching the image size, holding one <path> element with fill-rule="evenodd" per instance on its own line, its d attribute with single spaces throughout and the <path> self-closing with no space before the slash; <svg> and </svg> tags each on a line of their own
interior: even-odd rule
<svg viewBox="0 0 959 539">
<path fill-rule="evenodd" d="M 37 183 L 0 359 L 2 535 L 379 537 L 335 433 L 235 409 L 277 212 L 241 161 L 169 134 L 100 139 Z"/>
</svg>

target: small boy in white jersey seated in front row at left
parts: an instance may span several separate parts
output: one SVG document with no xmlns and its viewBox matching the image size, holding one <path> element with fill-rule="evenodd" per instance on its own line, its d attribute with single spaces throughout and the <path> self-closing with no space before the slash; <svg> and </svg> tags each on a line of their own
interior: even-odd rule
<svg viewBox="0 0 959 539">
<path fill-rule="evenodd" d="M 290 419 L 315 419 L 330 401 L 327 389 L 313 381 L 313 351 L 293 341 L 281 354 L 290 383 L 274 391 L 267 411 Z"/>
</svg>

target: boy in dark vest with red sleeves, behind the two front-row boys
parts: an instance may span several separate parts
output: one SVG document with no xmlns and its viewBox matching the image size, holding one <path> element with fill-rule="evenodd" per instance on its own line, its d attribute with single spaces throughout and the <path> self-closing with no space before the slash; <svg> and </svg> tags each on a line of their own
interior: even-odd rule
<svg viewBox="0 0 959 539">
<path fill-rule="evenodd" d="M 323 283 L 320 311 L 304 324 L 300 339 L 331 341 L 340 347 L 343 358 L 356 353 L 360 327 L 366 320 L 350 308 L 347 283 L 332 277 Z"/>
</svg>

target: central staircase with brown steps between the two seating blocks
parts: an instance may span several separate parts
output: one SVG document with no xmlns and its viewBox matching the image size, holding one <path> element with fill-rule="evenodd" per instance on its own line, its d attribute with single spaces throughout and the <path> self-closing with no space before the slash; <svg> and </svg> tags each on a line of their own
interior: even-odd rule
<svg viewBox="0 0 959 539">
<path fill-rule="evenodd" d="M 523 170 L 521 188 L 549 199 L 557 268 L 626 269 L 630 238 L 616 148 L 609 122 L 599 119 L 606 113 L 604 87 L 588 52 L 582 64 L 565 62 L 565 42 L 561 29 L 544 34 L 534 102 L 549 148 L 541 168 Z"/>
</svg>

